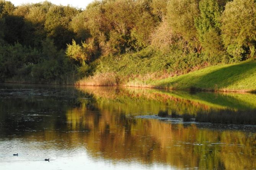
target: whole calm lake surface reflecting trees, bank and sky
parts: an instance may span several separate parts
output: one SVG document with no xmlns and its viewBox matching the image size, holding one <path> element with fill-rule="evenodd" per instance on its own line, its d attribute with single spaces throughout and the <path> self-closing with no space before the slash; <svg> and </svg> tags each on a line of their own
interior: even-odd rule
<svg viewBox="0 0 256 170">
<path fill-rule="evenodd" d="M 253 94 L 0 85 L 0 169 L 252 170 L 255 125 L 155 115 L 255 108 Z"/>
</svg>

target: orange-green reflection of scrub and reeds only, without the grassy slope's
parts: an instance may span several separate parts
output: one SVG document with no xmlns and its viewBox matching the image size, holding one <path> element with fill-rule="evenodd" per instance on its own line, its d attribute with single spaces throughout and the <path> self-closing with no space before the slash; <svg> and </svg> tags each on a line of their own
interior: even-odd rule
<svg viewBox="0 0 256 170">
<path fill-rule="evenodd" d="M 195 113 L 204 104 L 192 104 L 185 99 L 179 99 L 171 95 L 159 93 L 152 89 L 139 88 L 87 88 L 78 87 L 85 93 L 91 93 L 99 107 L 108 107 L 112 110 L 121 110 L 126 115 L 157 114 L 159 111 L 167 111 L 171 114 L 192 112 Z"/>
</svg>

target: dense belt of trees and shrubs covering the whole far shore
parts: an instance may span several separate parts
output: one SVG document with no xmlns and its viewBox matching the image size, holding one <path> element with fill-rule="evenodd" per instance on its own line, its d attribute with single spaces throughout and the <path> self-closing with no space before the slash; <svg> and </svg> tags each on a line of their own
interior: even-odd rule
<svg viewBox="0 0 256 170">
<path fill-rule="evenodd" d="M 85 10 L 0 0 L 1 82 L 160 79 L 255 48 L 255 0 L 95 0 Z"/>
</svg>

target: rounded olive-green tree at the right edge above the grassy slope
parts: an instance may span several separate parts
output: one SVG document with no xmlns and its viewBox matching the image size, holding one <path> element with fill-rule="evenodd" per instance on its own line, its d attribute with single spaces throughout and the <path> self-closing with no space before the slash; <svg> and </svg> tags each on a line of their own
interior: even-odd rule
<svg viewBox="0 0 256 170">
<path fill-rule="evenodd" d="M 223 42 L 235 61 L 241 61 L 246 48 L 251 57 L 256 47 L 256 2 L 234 0 L 228 2 L 222 15 Z"/>
</svg>

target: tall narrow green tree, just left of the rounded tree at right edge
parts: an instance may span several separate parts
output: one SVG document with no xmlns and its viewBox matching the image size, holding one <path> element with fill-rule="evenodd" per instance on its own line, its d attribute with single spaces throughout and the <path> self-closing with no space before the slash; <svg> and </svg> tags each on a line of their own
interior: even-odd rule
<svg viewBox="0 0 256 170">
<path fill-rule="evenodd" d="M 222 38 L 220 37 L 220 16 L 225 3 L 216 0 L 201 0 L 199 3 L 200 14 L 195 20 L 195 26 L 199 34 L 202 51 L 211 63 L 221 61 L 224 54 Z"/>
</svg>

